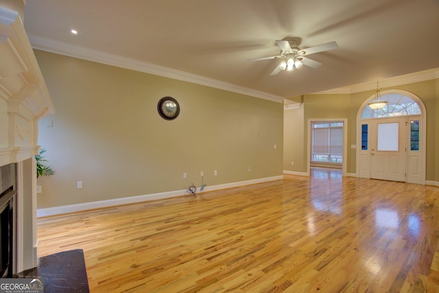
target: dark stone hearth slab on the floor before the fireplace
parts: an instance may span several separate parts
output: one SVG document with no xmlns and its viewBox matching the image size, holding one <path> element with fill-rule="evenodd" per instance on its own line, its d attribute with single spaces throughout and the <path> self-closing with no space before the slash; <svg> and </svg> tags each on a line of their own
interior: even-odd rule
<svg viewBox="0 0 439 293">
<path fill-rule="evenodd" d="M 82 249 L 40 257 L 37 268 L 21 272 L 16 277 L 42 279 L 46 293 L 90 292 Z"/>
</svg>

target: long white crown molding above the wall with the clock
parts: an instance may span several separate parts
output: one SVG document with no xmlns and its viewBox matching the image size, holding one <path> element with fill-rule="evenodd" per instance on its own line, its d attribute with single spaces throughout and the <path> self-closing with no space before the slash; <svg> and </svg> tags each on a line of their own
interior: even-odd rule
<svg viewBox="0 0 439 293">
<path fill-rule="evenodd" d="M 272 102 L 282 103 L 284 99 L 284 97 L 280 97 L 278 95 L 272 95 L 263 91 L 248 89 L 244 86 L 238 86 L 236 84 L 230 84 L 228 82 L 221 82 L 219 80 L 206 78 L 201 75 L 195 75 L 192 73 L 187 73 L 185 71 L 171 69 L 169 67 L 154 65 L 152 63 L 142 62 L 132 58 L 108 54 L 94 49 L 87 49 L 76 45 L 70 45 L 67 43 L 59 42 L 57 40 L 51 40 L 49 38 L 41 38 L 39 36 L 29 35 L 29 40 L 32 44 L 32 47 L 38 50 L 49 51 L 51 53 L 80 58 L 93 62 L 99 62 L 102 64 L 112 65 L 115 67 L 121 67 L 134 71 L 140 71 L 143 73 L 150 73 L 163 76 L 165 78 L 172 78 L 174 80 L 182 80 L 184 82 L 201 84 L 204 86 L 210 86 L 215 89 L 222 89 L 224 91 L 231 91 L 233 93 L 240 93 L 243 95 L 250 95 L 252 97 L 258 97 L 261 99 L 268 99 Z"/>
</svg>

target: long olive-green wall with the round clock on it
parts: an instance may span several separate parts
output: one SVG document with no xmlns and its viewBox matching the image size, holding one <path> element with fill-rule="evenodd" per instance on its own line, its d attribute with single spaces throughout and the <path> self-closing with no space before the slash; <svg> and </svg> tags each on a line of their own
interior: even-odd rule
<svg viewBox="0 0 439 293">
<path fill-rule="evenodd" d="M 35 53 L 56 109 L 39 123 L 56 171 L 38 179 L 39 209 L 200 187 L 201 171 L 208 186 L 283 173 L 281 103 Z M 158 115 L 164 96 L 180 104 L 173 121 Z"/>
</svg>

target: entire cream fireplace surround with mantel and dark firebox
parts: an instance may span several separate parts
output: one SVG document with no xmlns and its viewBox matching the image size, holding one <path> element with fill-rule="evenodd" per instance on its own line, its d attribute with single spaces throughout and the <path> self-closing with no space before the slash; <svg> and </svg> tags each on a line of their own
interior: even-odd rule
<svg viewBox="0 0 439 293">
<path fill-rule="evenodd" d="M 37 265 L 34 155 L 38 120 L 54 113 L 23 26 L 24 5 L 0 0 L 0 273 L 5 277 Z"/>
</svg>

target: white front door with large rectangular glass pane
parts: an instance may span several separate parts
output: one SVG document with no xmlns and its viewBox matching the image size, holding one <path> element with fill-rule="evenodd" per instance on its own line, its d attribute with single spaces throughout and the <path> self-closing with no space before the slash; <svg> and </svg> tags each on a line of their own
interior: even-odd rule
<svg viewBox="0 0 439 293">
<path fill-rule="evenodd" d="M 370 122 L 370 178 L 405 182 L 407 118 Z"/>
</svg>

